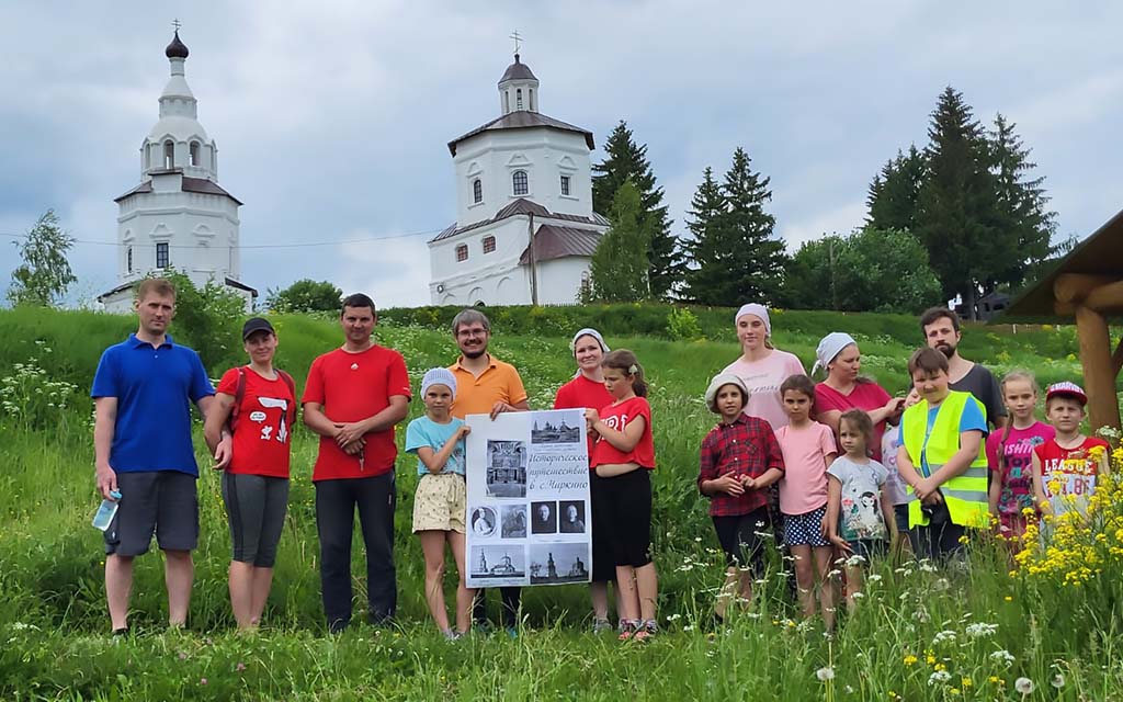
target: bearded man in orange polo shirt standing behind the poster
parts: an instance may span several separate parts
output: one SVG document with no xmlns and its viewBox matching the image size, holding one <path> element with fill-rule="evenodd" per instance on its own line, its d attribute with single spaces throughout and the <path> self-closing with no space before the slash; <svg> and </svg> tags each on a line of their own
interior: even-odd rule
<svg viewBox="0 0 1123 702">
<path fill-rule="evenodd" d="M 448 366 L 456 376 L 453 417 L 464 419 L 467 414 L 490 414 L 495 419 L 501 412 L 523 412 L 530 409 L 519 372 L 511 364 L 487 353 L 491 322 L 483 312 L 467 309 L 458 313 L 453 319 L 453 336 L 460 349 L 460 357 Z M 517 636 L 522 589 L 500 587 L 500 594 L 503 599 L 503 627 L 508 633 Z M 472 618 L 477 628 L 487 627 L 487 604 L 483 590 L 477 591 Z"/>
</svg>

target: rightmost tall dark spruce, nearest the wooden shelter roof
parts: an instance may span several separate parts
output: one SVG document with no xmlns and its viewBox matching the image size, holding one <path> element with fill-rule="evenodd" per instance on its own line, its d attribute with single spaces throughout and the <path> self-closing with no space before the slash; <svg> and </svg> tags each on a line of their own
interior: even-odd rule
<svg viewBox="0 0 1123 702">
<path fill-rule="evenodd" d="M 1021 285 L 1031 267 L 1054 252 L 1051 241 L 1057 213 L 1048 209 L 1049 197 L 1041 186 L 1044 177 L 1030 176 L 1037 164 L 1030 161 L 1030 149 L 1014 127 L 999 113 L 989 133 L 990 172 L 1002 221 L 1003 253 L 1007 255 L 1001 262 L 1005 265 L 984 284 L 986 291 L 998 284 Z"/>
</svg>

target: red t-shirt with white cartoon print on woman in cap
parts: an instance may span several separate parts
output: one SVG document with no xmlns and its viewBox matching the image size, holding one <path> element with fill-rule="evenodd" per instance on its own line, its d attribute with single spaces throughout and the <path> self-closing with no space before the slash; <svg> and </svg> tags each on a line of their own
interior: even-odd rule
<svg viewBox="0 0 1123 702">
<path fill-rule="evenodd" d="M 218 383 L 218 392 L 237 396 L 238 368 L 230 368 Z M 234 431 L 234 456 L 228 473 L 289 477 L 289 455 L 292 449 L 292 427 L 289 409 L 296 402 L 289 384 L 262 377 L 253 368 L 243 368 L 246 391 L 238 408 Z M 295 412 L 293 413 L 295 416 Z"/>
</svg>

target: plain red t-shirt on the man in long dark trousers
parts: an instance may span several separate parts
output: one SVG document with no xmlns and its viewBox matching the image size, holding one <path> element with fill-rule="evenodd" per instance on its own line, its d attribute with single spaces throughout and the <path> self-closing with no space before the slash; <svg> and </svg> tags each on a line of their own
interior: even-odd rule
<svg viewBox="0 0 1123 702">
<path fill-rule="evenodd" d="M 341 348 L 319 356 L 308 371 L 308 384 L 301 404 L 317 402 L 331 421 L 367 419 L 390 407 L 390 398 L 410 394 L 405 359 L 398 352 L 374 345 L 359 354 Z M 394 469 L 398 446 L 394 428 L 366 435 L 363 461 L 348 456 L 330 437 L 320 437 L 312 481 L 371 477 Z"/>
</svg>

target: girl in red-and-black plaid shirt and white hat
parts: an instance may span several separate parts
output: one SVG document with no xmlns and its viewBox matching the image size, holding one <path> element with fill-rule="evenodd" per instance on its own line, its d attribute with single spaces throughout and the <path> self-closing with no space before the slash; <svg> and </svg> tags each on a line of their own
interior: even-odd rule
<svg viewBox="0 0 1123 702">
<path fill-rule="evenodd" d="M 748 400 L 745 383 L 732 373 L 719 374 L 705 391 L 710 411 L 721 416 L 702 439 L 697 480 L 725 551 L 725 584 L 714 607 L 719 621 L 734 591 L 746 604 L 752 598 L 752 580 L 764 569 L 759 535 L 772 523 L 767 487 L 784 476 L 784 456 L 772 427 L 742 412 Z"/>
</svg>

